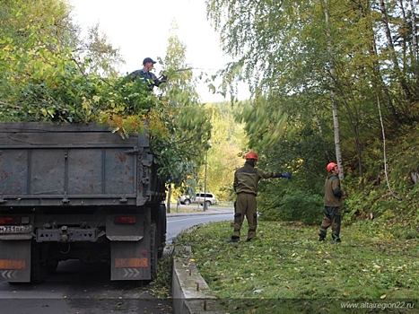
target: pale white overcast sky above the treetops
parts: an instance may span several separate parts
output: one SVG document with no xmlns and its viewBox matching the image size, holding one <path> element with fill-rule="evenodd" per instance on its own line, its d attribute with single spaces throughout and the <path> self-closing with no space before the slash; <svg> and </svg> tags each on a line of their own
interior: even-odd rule
<svg viewBox="0 0 419 314">
<path fill-rule="evenodd" d="M 144 57 L 165 57 L 170 24 L 179 26 L 177 35 L 187 47 L 187 63 L 215 74 L 231 59 L 223 56 L 219 35 L 206 20 L 205 0 L 70 0 L 74 19 L 83 28 L 99 22 L 114 48 L 127 62 L 120 69 L 131 73 L 142 68 Z M 155 73 L 161 70 L 155 66 Z M 220 95 L 207 91 L 206 85 L 197 87 L 204 101 L 223 101 Z"/>
</svg>

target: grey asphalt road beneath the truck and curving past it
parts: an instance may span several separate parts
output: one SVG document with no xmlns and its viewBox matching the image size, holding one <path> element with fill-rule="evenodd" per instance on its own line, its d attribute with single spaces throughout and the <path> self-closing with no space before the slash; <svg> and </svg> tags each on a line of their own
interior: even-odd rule
<svg viewBox="0 0 419 314">
<path fill-rule="evenodd" d="M 205 222 L 232 220 L 232 209 L 205 213 L 169 214 L 167 245 L 179 232 Z M 10 284 L 0 279 L 0 313 L 7 314 L 171 314 L 171 300 L 160 300 L 149 287 L 134 282 L 111 282 L 108 265 L 60 262 L 44 283 Z"/>
</svg>

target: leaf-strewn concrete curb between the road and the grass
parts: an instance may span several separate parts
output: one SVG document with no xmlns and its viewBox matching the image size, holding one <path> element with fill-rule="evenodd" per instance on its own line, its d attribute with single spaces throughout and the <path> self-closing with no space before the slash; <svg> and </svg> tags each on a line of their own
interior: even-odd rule
<svg viewBox="0 0 419 314">
<path fill-rule="evenodd" d="M 222 314 L 221 307 L 199 274 L 190 247 L 173 249 L 171 295 L 175 314 Z"/>
</svg>

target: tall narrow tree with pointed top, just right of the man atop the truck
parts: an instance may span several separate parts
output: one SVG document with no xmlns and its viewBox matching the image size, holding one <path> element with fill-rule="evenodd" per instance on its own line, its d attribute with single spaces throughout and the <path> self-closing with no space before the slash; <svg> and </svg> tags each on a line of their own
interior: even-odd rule
<svg viewBox="0 0 419 314">
<path fill-rule="evenodd" d="M 186 60 L 186 46 L 176 35 L 177 25 L 172 22 L 162 74 L 168 76 L 161 85 L 164 106 L 159 112 L 161 126 L 165 130 L 154 144 L 153 153 L 161 164 L 167 165 L 164 175 L 175 187 L 184 187 L 190 193 L 196 187 L 199 166 L 211 137 L 211 112 L 199 102 L 196 82 L 191 66 Z"/>
</svg>

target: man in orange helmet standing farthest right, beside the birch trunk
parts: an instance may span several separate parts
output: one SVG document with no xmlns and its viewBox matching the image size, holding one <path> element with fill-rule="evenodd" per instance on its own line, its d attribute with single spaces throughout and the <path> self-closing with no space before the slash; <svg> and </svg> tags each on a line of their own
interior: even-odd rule
<svg viewBox="0 0 419 314">
<path fill-rule="evenodd" d="M 342 196 L 345 192 L 340 188 L 339 168 L 335 162 L 327 164 L 328 176 L 325 182 L 325 211 L 320 225 L 319 240 L 324 241 L 327 228 L 332 227 L 332 239 L 340 242 Z"/>
</svg>

